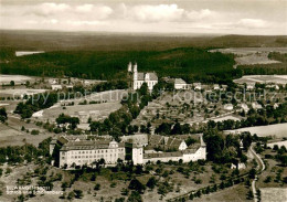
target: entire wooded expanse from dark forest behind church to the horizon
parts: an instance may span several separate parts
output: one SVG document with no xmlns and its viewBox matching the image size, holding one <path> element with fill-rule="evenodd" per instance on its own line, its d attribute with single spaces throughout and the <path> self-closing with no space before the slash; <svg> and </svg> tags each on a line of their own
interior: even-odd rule
<svg viewBox="0 0 287 202">
<path fill-rule="evenodd" d="M 243 74 L 280 74 L 286 71 L 284 65 L 272 72 L 264 71 L 264 65 L 234 70 L 234 55 L 208 52 L 210 49 L 231 46 L 286 46 L 286 36 L 108 35 L 30 31 L 0 31 L 0 36 L 1 74 L 125 79 L 129 61 L 136 61 L 139 71 L 155 71 L 159 76 L 182 77 L 188 82 L 226 83 Z M 15 51 L 46 53 L 15 57 Z"/>
</svg>

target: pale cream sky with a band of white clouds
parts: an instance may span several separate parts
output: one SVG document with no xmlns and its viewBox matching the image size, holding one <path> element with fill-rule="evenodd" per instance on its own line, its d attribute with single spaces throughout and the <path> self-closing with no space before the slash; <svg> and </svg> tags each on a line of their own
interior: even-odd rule
<svg viewBox="0 0 287 202">
<path fill-rule="evenodd" d="M 287 0 L 0 0 L 0 29 L 287 35 Z"/>
</svg>

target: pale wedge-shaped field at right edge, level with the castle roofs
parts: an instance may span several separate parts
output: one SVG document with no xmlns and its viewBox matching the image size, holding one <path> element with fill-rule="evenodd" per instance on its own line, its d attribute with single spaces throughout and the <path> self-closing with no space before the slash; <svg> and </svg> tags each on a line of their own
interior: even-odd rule
<svg viewBox="0 0 287 202">
<path fill-rule="evenodd" d="M 240 129 L 226 130 L 226 131 L 232 134 L 249 131 L 252 135 L 257 134 L 257 136 L 259 137 L 276 136 L 277 138 L 283 138 L 283 137 L 287 137 L 287 123 L 268 125 L 268 126 L 246 127 L 246 128 L 240 128 Z"/>
</svg>

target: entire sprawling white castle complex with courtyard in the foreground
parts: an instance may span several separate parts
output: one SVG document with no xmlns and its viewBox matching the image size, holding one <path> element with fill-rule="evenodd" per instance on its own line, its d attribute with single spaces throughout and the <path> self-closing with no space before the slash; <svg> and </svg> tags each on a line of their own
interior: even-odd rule
<svg viewBox="0 0 287 202">
<path fill-rule="evenodd" d="M 55 152 L 60 168 L 84 164 L 93 167 L 100 159 L 105 160 L 106 166 L 115 166 L 118 159 L 124 162 L 132 160 L 134 164 L 179 160 L 190 162 L 206 159 L 206 147 L 202 135 L 200 143 L 190 147 L 184 140 L 159 135 L 126 136 L 121 142 L 88 140 L 87 136 L 61 136 L 50 143 L 50 153 Z"/>
</svg>

